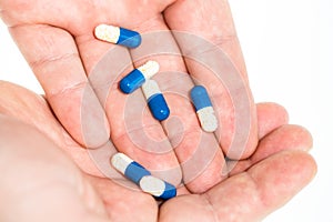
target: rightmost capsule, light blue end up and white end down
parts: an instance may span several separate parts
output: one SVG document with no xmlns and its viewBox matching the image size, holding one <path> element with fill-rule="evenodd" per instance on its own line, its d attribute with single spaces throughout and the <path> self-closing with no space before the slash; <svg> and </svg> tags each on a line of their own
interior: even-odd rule
<svg viewBox="0 0 333 222">
<path fill-rule="evenodd" d="M 195 107 L 201 128 L 206 132 L 214 132 L 218 129 L 218 119 L 205 88 L 195 85 L 191 90 L 191 99 Z"/>
</svg>

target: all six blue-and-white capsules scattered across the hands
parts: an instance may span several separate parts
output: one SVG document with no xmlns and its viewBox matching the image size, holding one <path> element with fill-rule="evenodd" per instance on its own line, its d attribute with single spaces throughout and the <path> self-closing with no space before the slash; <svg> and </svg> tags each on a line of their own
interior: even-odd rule
<svg viewBox="0 0 333 222">
<path fill-rule="evenodd" d="M 121 44 L 131 49 L 141 44 L 140 33 L 110 24 L 98 26 L 94 30 L 94 36 L 99 40 Z M 169 118 L 170 109 L 158 82 L 151 80 L 159 70 L 159 63 L 150 60 L 128 73 L 120 81 L 119 89 L 123 93 L 130 94 L 141 88 L 152 115 L 154 119 L 163 121 Z M 195 85 L 191 89 L 190 95 L 201 128 L 206 132 L 214 132 L 218 128 L 218 119 L 214 114 L 208 91 L 202 85 Z M 123 153 L 115 153 L 111 159 L 111 164 L 124 176 L 138 184 L 143 192 L 163 200 L 176 195 L 176 188 L 174 185 L 151 175 L 147 169 Z"/>
</svg>

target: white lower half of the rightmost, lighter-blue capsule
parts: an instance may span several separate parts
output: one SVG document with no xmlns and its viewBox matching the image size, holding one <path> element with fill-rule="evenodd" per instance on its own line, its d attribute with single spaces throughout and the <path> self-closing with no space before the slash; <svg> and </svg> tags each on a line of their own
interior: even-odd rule
<svg viewBox="0 0 333 222">
<path fill-rule="evenodd" d="M 214 132 L 218 129 L 218 119 L 212 107 L 202 108 L 196 111 L 201 128 L 205 132 Z"/>
</svg>

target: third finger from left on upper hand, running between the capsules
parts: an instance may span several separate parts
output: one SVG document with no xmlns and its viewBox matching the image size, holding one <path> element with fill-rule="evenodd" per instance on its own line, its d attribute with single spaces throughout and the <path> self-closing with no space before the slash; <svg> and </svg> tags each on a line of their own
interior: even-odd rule
<svg viewBox="0 0 333 222">
<path fill-rule="evenodd" d="M 213 133 L 203 132 L 189 99 L 194 87 L 175 40 L 162 16 L 141 23 L 142 44 L 131 50 L 134 65 L 154 60 L 160 73 L 153 77 L 164 92 L 171 114 L 162 121 L 174 153 L 181 164 L 183 182 L 192 192 L 204 192 L 224 176 L 224 157 Z"/>
</svg>

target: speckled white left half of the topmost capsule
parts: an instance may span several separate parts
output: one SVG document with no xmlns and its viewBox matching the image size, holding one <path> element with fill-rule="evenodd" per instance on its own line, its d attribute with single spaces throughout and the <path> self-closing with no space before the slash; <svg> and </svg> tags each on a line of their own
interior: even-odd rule
<svg viewBox="0 0 333 222">
<path fill-rule="evenodd" d="M 94 36 L 99 40 L 115 44 L 120 37 L 120 28 L 110 24 L 100 24 L 94 29 Z"/>
</svg>

